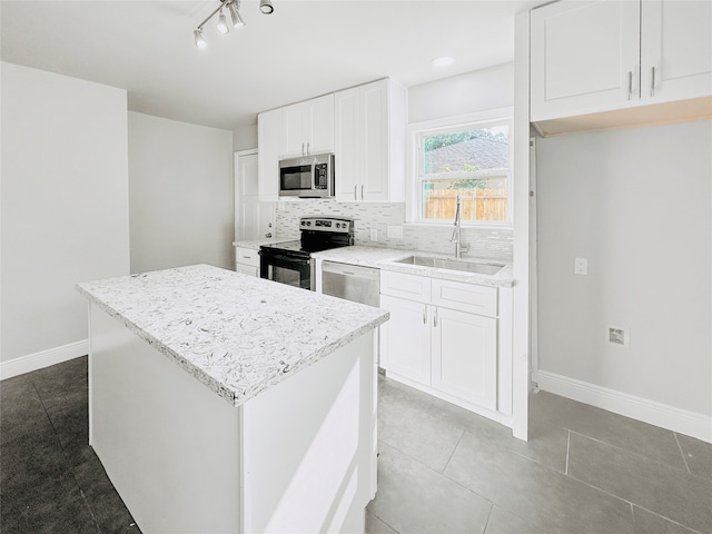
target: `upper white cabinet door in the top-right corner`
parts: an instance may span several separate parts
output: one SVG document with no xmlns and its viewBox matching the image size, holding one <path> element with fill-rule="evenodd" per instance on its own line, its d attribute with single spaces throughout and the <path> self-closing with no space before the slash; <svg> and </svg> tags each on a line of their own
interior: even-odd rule
<svg viewBox="0 0 712 534">
<path fill-rule="evenodd" d="M 712 2 L 645 0 L 641 13 L 641 98 L 712 95 Z"/>
</svg>

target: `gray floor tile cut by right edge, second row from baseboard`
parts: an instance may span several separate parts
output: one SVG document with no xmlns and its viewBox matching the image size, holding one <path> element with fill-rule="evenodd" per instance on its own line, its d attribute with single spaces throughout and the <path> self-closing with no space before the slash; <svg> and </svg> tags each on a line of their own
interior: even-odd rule
<svg viewBox="0 0 712 534">
<path fill-rule="evenodd" d="M 573 433 L 568 474 L 693 530 L 712 532 L 710 481 Z"/>
</svg>

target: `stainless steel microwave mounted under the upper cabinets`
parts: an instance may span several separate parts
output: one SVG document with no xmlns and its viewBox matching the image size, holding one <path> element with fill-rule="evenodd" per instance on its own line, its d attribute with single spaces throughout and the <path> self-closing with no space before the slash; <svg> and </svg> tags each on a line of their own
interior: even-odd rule
<svg viewBox="0 0 712 534">
<path fill-rule="evenodd" d="M 279 161 L 279 196 L 333 197 L 334 155 L 318 154 Z"/>
</svg>

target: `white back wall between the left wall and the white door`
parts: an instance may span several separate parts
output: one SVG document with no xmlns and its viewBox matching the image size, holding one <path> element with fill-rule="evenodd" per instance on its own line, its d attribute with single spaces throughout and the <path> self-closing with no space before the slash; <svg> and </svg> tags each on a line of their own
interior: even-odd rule
<svg viewBox="0 0 712 534">
<path fill-rule="evenodd" d="M 131 273 L 231 268 L 233 132 L 128 115 Z"/>
</svg>

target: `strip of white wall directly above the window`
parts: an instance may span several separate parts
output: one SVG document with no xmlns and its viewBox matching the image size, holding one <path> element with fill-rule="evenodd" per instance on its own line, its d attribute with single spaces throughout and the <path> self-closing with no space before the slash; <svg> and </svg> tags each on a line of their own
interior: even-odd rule
<svg viewBox="0 0 712 534">
<path fill-rule="evenodd" d="M 514 63 L 502 63 L 408 89 L 408 122 L 514 105 Z"/>
</svg>

